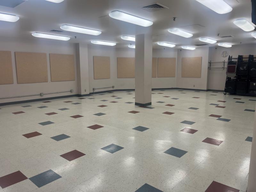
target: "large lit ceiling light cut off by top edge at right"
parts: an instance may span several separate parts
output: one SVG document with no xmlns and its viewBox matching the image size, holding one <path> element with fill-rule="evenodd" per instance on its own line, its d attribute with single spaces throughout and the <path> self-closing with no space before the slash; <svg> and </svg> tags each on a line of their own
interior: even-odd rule
<svg viewBox="0 0 256 192">
<path fill-rule="evenodd" d="M 204 6 L 208 7 L 212 11 L 215 11 L 219 14 L 224 14 L 232 11 L 232 7 L 230 7 L 223 0 L 196 0 Z"/>
</svg>

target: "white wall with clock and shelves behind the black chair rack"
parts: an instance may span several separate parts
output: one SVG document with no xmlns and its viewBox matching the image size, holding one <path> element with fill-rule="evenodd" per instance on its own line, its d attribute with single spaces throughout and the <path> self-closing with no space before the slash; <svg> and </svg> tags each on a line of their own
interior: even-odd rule
<svg viewBox="0 0 256 192">
<path fill-rule="evenodd" d="M 234 45 L 230 48 L 225 47 L 210 47 L 209 48 L 209 61 L 227 61 L 228 57 L 223 58 L 221 53 L 227 51 L 233 58 L 238 55 L 256 55 L 256 46 L 249 45 Z M 223 63 L 212 64 L 212 67 L 222 67 Z M 225 64 L 227 66 L 227 63 Z M 211 69 L 209 70 L 209 87 L 208 89 L 224 90 L 226 82 L 226 69 Z"/>
</svg>

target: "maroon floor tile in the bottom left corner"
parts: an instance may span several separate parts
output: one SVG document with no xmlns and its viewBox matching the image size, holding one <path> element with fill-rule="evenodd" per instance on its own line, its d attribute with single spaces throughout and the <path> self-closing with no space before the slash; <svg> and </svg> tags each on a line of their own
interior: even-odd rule
<svg viewBox="0 0 256 192">
<path fill-rule="evenodd" d="M 2 188 L 9 187 L 15 183 L 28 179 L 22 172 L 17 171 L 3 177 L 0 177 L 0 186 Z"/>
</svg>

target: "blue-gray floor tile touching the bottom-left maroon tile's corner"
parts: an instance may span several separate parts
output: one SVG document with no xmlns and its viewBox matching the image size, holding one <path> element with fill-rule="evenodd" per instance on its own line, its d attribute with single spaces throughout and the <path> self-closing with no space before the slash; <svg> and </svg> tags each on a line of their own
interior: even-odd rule
<svg viewBox="0 0 256 192">
<path fill-rule="evenodd" d="M 46 172 L 40 173 L 34 177 L 30 177 L 29 180 L 31 180 L 37 187 L 43 187 L 44 185 L 47 185 L 48 183 L 51 183 L 52 181 L 55 181 L 57 179 L 60 179 L 61 176 L 55 173 L 52 170 L 48 170 Z"/>
</svg>

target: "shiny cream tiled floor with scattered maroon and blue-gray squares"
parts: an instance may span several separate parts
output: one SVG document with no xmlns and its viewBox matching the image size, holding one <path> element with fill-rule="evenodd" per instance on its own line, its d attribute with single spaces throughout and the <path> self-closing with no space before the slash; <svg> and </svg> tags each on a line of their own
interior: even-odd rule
<svg viewBox="0 0 256 192">
<path fill-rule="evenodd" d="M 256 98 L 108 92 L 0 107 L 0 192 L 246 191 Z"/>
</svg>

